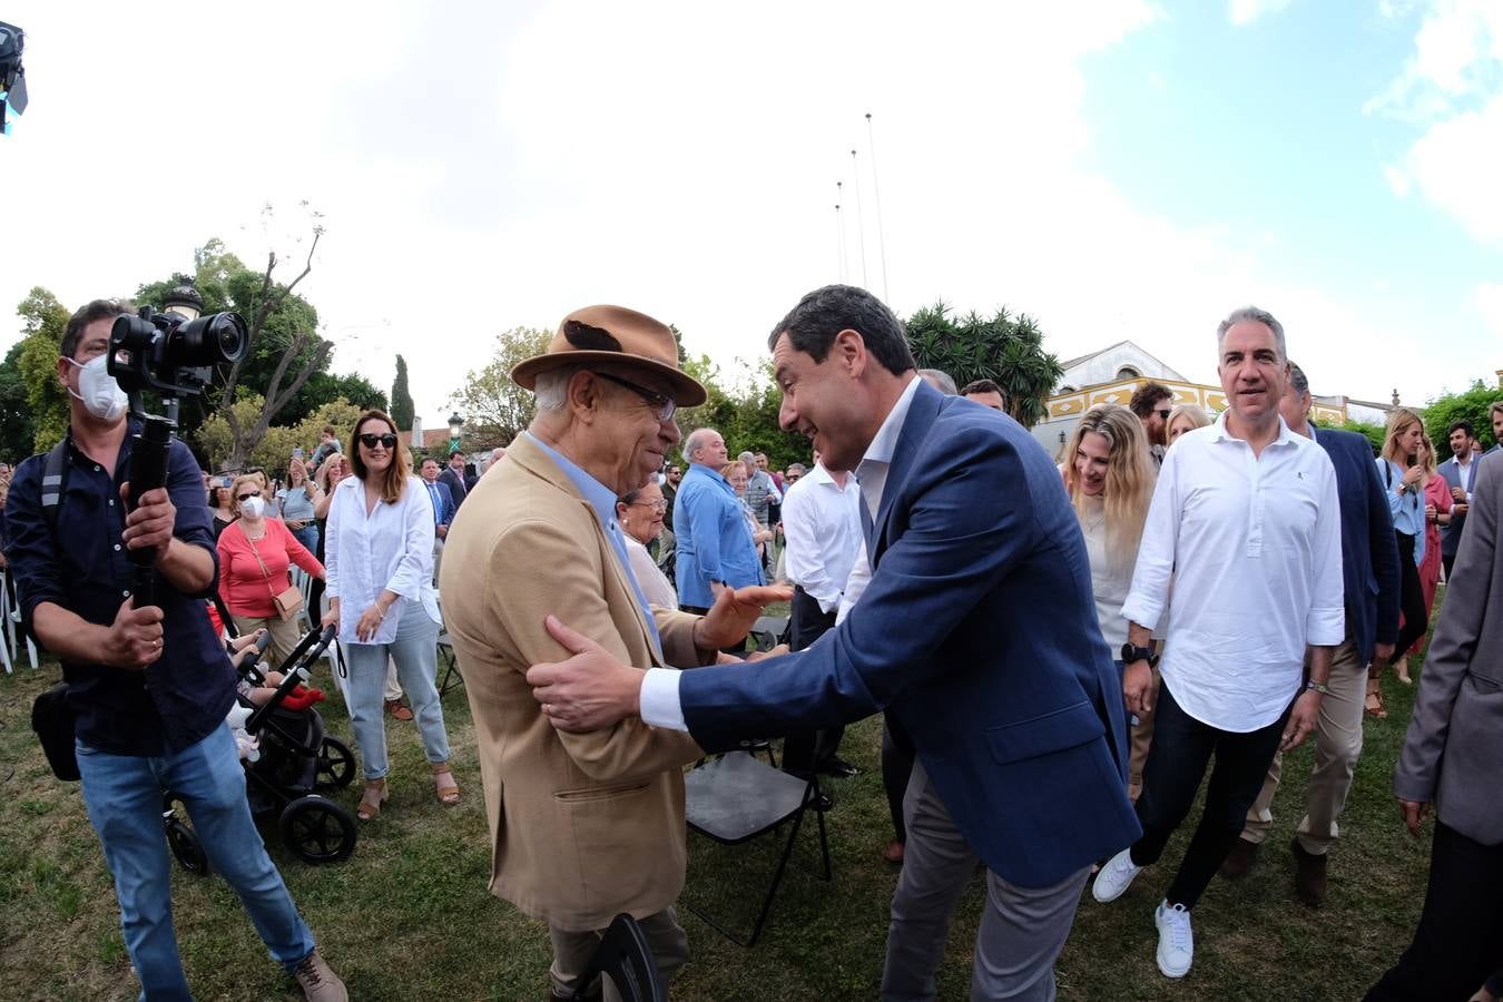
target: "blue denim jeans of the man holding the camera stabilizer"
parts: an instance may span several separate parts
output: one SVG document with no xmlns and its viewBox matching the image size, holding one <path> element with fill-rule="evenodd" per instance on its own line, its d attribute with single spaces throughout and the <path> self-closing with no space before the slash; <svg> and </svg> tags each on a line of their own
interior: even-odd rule
<svg viewBox="0 0 1503 1002">
<path fill-rule="evenodd" d="M 141 979 L 141 999 L 192 999 L 173 931 L 162 790 L 182 798 L 209 865 L 240 895 L 272 957 L 292 970 L 313 952 L 313 933 L 256 831 L 227 724 L 191 748 L 161 757 L 113 756 L 81 741 L 77 748 L 84 807 L 114 876 L 120 928 Z"/>
</svg>

